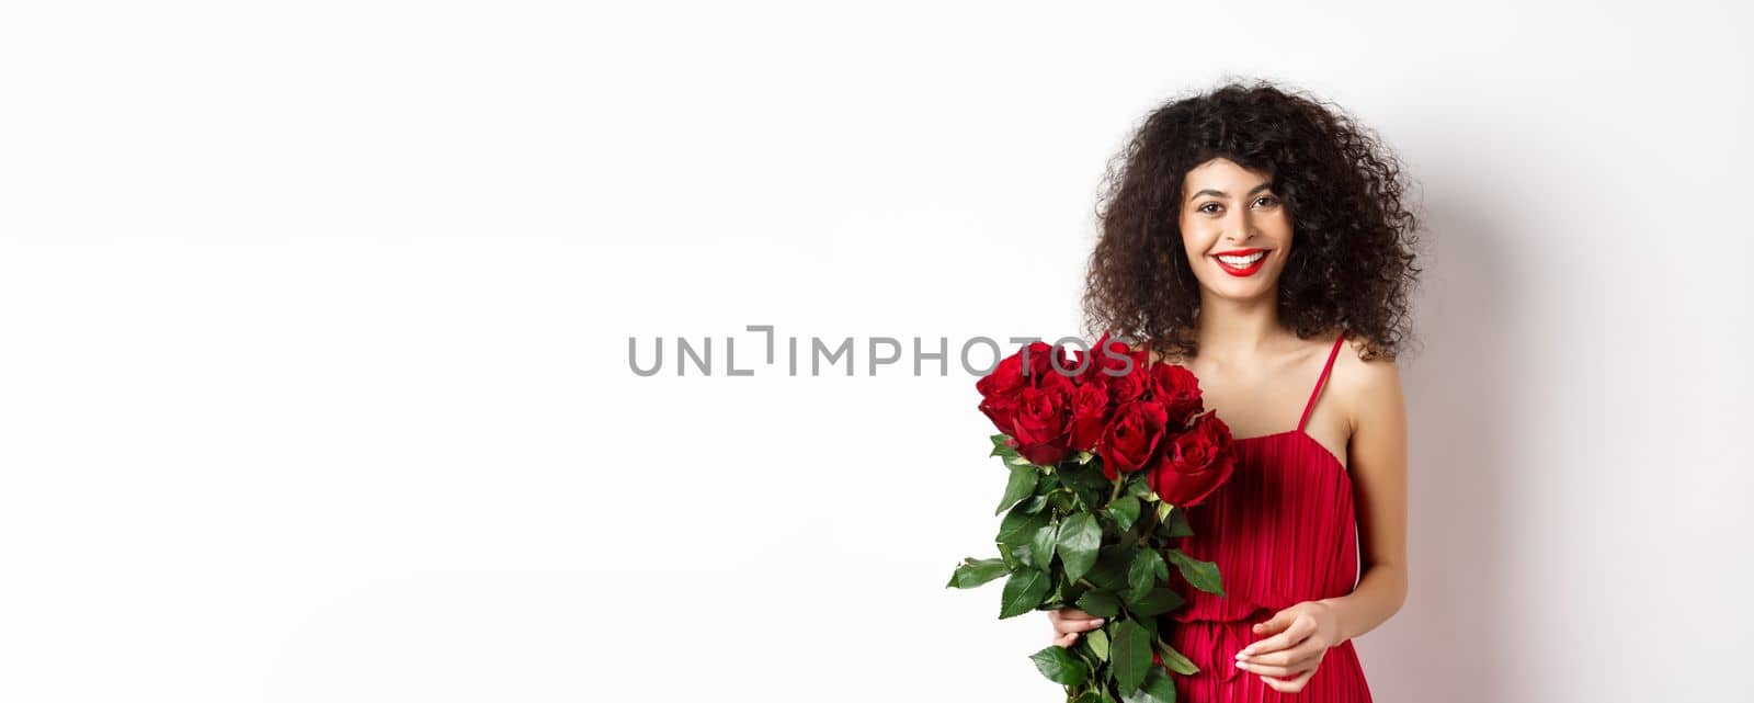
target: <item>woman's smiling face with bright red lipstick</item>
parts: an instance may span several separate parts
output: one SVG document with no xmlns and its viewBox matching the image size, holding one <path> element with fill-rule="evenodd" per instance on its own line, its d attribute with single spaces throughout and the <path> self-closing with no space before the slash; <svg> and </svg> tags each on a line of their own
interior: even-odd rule
<svg viewBox="0 0 1754 703">
<path fill-rule="evenodd" d="M 1273 295 L 1291 254 L 1291 214 L 1272 177 L 1216 158 L 1182 179 L 1180 230 L 1187 265 L 1207 295 Z"/>
</svg>

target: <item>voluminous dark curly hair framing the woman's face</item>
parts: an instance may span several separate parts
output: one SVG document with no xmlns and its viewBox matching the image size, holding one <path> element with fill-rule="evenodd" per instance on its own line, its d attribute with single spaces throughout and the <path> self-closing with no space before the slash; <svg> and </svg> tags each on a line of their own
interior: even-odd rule
<svg viewBox="0 0 1754 703">
<path fill-rule="evenodd" d="M 1419 221 L 1398 158 L 1345 110 L 1270 81 L 1228 82 L 1152 110 L 1109 161 L 1084 291 L 1087 331 L 1198 354 L 1200 282 L 1182 251 L 1182 177 L 1214 158 L 1270 174 L 1296 245 L 1279 319 L 1298 338 L 1349 330 L 1394 358 L 1408 328 Z"/>
</svg>

